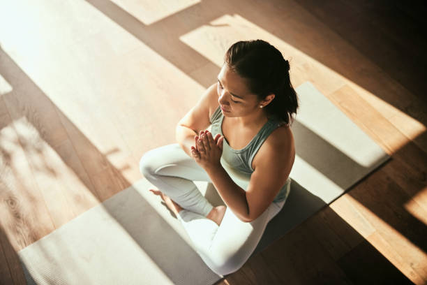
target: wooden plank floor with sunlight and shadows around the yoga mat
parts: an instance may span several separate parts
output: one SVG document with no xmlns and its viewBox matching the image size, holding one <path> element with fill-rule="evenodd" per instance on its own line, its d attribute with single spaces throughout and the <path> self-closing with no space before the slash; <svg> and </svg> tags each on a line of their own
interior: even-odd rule
<svg viewBox="0 0 427 285">
<path fill-rule="evenodd" d="M 139 180 L 254 38 L 392 159 L 218 284 L 427 284 L 426 20 L 405 3 L 1 4 L 0 284 L 24 284 L 17 251 Z"/>
</svg>

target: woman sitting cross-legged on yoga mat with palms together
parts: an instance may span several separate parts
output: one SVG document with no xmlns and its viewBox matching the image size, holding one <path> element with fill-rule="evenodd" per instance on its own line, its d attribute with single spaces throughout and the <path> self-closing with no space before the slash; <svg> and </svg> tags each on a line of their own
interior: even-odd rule
<svg viewBox="0 0 427 285">
<path fill-rule="evenodd" d="M 165 200 L 218 275 L 244 265 L 289 194 L 290 124 L 298 108 L 289 70 L 289 61 L 265 41 L 234 43 L 218 82 L 179 121 L 178 143 L 140 161 L 159 189 L 150 191 Z M 193 181 L 213 183 L 226 206 L 213 207 Z"/>
</svg>

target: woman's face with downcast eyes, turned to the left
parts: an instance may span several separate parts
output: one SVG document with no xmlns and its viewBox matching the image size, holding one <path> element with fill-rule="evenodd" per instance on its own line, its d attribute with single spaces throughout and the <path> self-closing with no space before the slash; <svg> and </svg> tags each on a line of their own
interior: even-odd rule
<svg viewBox="0 0 427 285">
<path fill-rule="evenodd" d="M 260 101 L 251 94 L 246 80 L 232 71 L 227 64 L 218 74 L 218 103 L 225 117 L 244 117 L 253 112 L 260 112 Z"/>
</svg>

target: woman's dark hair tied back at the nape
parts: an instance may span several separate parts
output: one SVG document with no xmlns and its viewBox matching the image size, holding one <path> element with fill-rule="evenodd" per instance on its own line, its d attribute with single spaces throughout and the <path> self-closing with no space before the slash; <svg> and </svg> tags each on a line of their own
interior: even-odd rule
<svg viewBox="0 0 427 285">
<path fill-rule="evenodd" d="M 276 47 L 262 40 L 238 41 L 225 52 L 224 61 L 246 79 L 249 91 L 260 100 L 274 93 L 276 96 L 264 110 L 292 124 L 292 115 L 299 107 L 297 92 L 290 82 L 289 61 Z"/>
</svg>

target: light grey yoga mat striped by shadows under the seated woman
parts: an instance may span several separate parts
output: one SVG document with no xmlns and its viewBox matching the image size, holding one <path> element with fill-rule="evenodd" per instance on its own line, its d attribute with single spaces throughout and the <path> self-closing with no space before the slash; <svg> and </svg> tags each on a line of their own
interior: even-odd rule
<svg viewBox="0 0 427 285">
<path fill-rule="evenodd" d="M 297 88 L 297 158 L 290 195 L 253 254 L 301 224 L 389 159 L 309 82 Z M 244 185 L 244 181 L 237 181 Z M 196 182 L 213 205 L 223 203 Z M 179 221 L 140 180 L 19 251 L 29 284 L 213 284 Z"/>
</svg>

